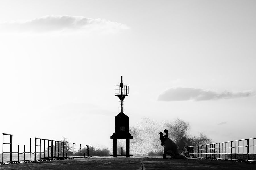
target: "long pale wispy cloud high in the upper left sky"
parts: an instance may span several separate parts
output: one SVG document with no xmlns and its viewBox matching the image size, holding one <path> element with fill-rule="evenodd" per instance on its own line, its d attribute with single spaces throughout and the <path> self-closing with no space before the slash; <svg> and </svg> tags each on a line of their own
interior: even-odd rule
<svg viewBox="0 0 256 170">
<path fill-rule="evenodd" d="M 86 18 L 84 16 L 43 16 L 29 21 L 13 21 L 0 23 L 0 32 L 115 32 L 129 29 L 125 24 L 112 22 L 105 19 Z"/>
</svg>

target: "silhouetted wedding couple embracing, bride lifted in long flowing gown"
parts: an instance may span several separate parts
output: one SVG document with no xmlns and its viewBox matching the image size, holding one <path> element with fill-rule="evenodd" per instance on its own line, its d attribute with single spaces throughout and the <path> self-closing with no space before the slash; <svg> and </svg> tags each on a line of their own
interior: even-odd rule
<svg viewBox="0 0 256 170">
<path fill-rule="evenodd" d="M 166 154 L 169 154 L 173 159 L 187 159 L 186 156 L 179 154 L 178 145 L 168 138 L 168 130 L 165 129 L 164 133 L 165 135 L 159 132 L 161 145 L 164 147 L 163 159 L 167 159 Z"/>
</svg>

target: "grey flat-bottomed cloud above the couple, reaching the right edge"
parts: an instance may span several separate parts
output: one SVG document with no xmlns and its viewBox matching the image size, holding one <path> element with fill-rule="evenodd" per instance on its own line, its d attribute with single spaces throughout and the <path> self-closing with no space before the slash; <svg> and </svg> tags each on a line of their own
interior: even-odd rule
<svg viewBox="0 0 256 170">
<path fill-rule="evenodd" d="M 217 92 L 215 90 L 204 90 L 199 88 L 170 88 L 158 96 L 159 101 L 202 101 L 232 99 L 239 97 L 255 96 L 255 92 Z"/>
</svg>

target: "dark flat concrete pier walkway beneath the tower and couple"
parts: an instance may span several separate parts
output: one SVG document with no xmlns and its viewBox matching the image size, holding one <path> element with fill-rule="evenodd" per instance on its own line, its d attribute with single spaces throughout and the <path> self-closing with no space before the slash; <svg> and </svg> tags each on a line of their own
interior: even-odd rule
<svg viewBox="0 0 256 170">
<path fill-rule="evenodd" d="M 205 159 L 162 159 L 160 156 L 92 157 L 0 165 L 0 169 L 256 169 L 256 163 Z"/>
</svg>

